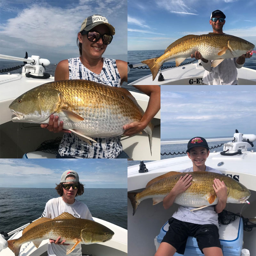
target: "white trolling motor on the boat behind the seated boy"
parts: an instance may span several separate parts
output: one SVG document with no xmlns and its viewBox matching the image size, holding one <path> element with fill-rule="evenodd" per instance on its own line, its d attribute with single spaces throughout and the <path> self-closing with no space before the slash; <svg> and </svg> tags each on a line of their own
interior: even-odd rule
<svg viewBox="0 0 256 256">
<path fill-rule="evenodd" d="M 220 152 L 222 156 L 235 156 L 247 151 L 247 148 L 253 147 L 252 142 L 256 140 L 254 134 L 243 134 L 236 130 L 232 141 L 225 143 L 223 151 Z"/>
</svg>

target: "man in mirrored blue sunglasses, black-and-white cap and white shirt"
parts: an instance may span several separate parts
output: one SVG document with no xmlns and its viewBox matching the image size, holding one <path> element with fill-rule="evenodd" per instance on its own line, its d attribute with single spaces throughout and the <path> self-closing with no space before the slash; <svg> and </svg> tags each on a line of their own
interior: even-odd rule
<svg viewBox="0 0 256 256">
<path fill-rule="evenodd" d="M 212 12 L 210 24 L 212 25 L 213 33 L 225 34 L 222 30 L 225 24 L 225 18 L 225 14 L 220 10 Z M 229 51 L 229 49 L 226 50 Z M 246 52 L 246 54 L 243 54 L 238 58 L 220 59 L 221 63 L 217 67 L 211 67 L 212 61 L 202 58 L 200 52 L 195 52 L 195 55 L 191 54 L 191 58 L 195 57 L 196 59 L 201 60 L 201 64 L 205 69 L 202 84 L 210 85 L 238 84 L 236 68 L 242 68 L 244 66 L 245 58 L 250 58 L 251 56 L 252 55 L 250 55 L 249 52 Z"/>
</svg>

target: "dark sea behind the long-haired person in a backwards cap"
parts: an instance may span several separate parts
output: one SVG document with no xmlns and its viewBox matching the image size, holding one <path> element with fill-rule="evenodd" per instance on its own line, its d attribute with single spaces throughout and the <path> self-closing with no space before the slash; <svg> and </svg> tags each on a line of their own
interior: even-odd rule
<svg viewBox="0 0 256 256">
<path fill-rule="evenodd" d="M 41 217 L 45 204 L 59 197 L 54 188 L 0 188 L 0 232 L 10 232 Z M 77 200 L 93 217 L 127 229 L 127 189 L 85 188 Z"/>
</svg>

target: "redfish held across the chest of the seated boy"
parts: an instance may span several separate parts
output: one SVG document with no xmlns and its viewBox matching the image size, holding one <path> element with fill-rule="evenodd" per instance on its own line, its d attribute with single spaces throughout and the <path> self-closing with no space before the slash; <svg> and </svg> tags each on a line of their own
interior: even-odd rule
<svg viewBox="0 0 256 256">
<path fill-rule="evenodd" d="M 153 205 L 162 202 L 164 197 L 169 194 L 180 179 L 180 176 L 184 177 L 187 173 L 193 177 L 192 185 L 186 191 L 176 196 L 174 200 L 176 204 L 200 208 L 218 204 L 219 198 L 212 187 L 215 178 L 224 181 L 228 188 L 227 203 L 249 203 L 247 201 L 251 195 L 249 189 L 226 175 L 215 172 L 167 172 L 150 180 L 143 191 L 128 193 L 133 208 L 132 215 L 134 215 L 140 202 L 144 199 L 152 198 Z"/>
</svg>

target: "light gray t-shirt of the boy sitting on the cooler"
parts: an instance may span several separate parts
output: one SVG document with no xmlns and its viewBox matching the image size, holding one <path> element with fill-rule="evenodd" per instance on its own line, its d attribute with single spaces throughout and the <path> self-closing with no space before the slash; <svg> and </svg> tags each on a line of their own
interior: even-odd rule
<svg viewBox="0 0 256 256">
<path fill-rule="evenodd" d="M 213 169 L 209 166 L 206 166 L 205 171 L 206 172 L 217 172 L 217 173 L 221 174 L 221 172 L 219 170 Z M 193 172 L 193 167 L 190 167 L 185 170 L 181 170 L 180 172 Z M 212 180 L 212 184 L 213 184 L 213 180 Z M 179 209 L 177 210 L 177 212 L 175 212 L 172 215 L 172 217 L 177 220 L 195 223 L 195 224 L 201 224 L 201 225 L 213 224 L 219 228 L 218 214 L 217 214 L 217 212 L 214 211 L 214 207 L 215 207 L 215 205 L 207 206 L 203 209 L 190 212 L 190 210 L 198 208 L 198 207 L 180 206 Z"/>
</svg>

